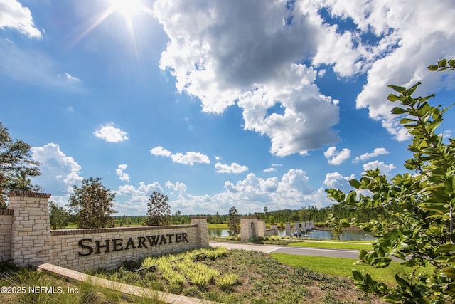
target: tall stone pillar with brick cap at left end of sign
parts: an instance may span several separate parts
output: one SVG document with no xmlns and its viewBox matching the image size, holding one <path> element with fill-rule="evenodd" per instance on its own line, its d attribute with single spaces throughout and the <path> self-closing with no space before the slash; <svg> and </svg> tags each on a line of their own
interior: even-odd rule
<svg viewBox="0 0 455 304">
<path fill-rule="evenodd" d="M 9 192 L 14 210 L 11 226 L 11 260 L 17 266 L 49 262 L 52 257 L 48 199 L 50 194 Z"/>
</svg>

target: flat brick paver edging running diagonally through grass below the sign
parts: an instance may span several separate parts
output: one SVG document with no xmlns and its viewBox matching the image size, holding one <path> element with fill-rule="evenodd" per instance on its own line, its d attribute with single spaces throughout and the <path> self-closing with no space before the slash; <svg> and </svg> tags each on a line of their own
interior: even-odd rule
<svg viewBox="0 0 455 304">
<path fill-rule="evenodd" d="M 43 263 L 38 268 L 48 271 L 50 273 L 56 273 L 65 278 L 70 278 L 77 281 L 87 282 L 93 285 L 97 285 L 104 288 L 119 291 L 121 293 L 127 293 L 129 295 L 137 295 L 142 298 L 158 299 L 170 304 L 220 304 L 208 300 L 200 300 L 196 298 L 189 298 L 184 295 L 173 295 L 172 293 L 164 293 L 159 290 L 151 290 L 148 288 L 128 285 L 124 283 L 118 283 L 107 280 L 105 278 L 97 278 L 96 276 L 90 276 L 85 273 L 70 270 L 60 266 L 55 266 L 50 263 Z"/>
</svg>

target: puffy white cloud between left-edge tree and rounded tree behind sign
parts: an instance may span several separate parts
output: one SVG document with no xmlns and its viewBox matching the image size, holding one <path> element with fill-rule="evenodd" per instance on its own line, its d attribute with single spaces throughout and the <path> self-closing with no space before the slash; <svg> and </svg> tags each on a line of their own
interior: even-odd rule
<svg viewBox="0 0 455 304">
<path fill-rule="evenodd" d="M 80 184 L 82 169 L 73 157 L 66 156 L 57 144 L 49 143 L 43 147 L 31 148 L 33 160 L 41 163 L 42 175 L 36 177 L 41 187 L 52 188 L 55 195 L 65 195 L 73 192 L 73 186 Z"/>
</svg>

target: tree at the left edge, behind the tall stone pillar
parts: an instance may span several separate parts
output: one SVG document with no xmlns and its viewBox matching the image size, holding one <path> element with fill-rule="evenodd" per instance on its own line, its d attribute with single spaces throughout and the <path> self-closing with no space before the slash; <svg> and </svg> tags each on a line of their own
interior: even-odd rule
<svg viewBox="0 0 455 304">
<path fill-rule="evenodd" d="M 7 206 L 6 192 L 11 190 L 39 191 L 28 177 L 40 175 L 39 162 L 31 158 L 31 146 L 22 140 L 13 140 L 8 128 L 0 122 L 0 208 Z"/>
</svg>

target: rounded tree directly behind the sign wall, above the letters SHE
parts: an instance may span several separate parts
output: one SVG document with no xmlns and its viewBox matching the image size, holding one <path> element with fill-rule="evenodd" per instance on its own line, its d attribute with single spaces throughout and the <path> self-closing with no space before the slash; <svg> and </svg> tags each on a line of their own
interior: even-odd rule
<svg viewBox="0 0 455 304">
<path fill-rule="evenodd" d="M 70 210 L 77 217 L 78 227 L 105 228 L 113 227 L 115 195 L 102 183 L 100 177 L 82 180 L 82 187 L 73 186 L 74 193 L 68 201 Z"/>
</svg>

